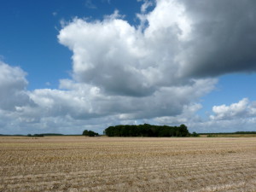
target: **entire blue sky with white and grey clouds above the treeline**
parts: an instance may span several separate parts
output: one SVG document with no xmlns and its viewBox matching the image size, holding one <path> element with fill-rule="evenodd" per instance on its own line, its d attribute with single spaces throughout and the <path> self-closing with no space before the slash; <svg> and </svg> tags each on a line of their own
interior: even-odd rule
<svg viewBox="0 0 256 192">
<path fill-rule="evenodd" d="M 256 131 L 254 0 L 2 0 L 0 134 Z"/>
</svg>

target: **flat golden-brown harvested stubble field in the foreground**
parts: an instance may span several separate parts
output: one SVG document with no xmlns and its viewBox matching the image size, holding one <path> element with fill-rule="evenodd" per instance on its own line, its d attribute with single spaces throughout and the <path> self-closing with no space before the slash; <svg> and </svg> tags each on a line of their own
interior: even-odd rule
<svg viewBox="0 0 256 192">
<path fill-rule="evenodd" d="M 0 137 L 0 191 L 256 191 L 256 137 Z"/>
</svg>

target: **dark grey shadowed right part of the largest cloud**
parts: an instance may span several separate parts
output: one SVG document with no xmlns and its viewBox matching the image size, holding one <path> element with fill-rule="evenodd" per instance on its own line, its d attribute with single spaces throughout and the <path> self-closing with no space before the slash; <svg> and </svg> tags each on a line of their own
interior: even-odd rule
<svg viewBox="0 0 256 192">
<path fill-rule="evenodd" d="M 212 77 L 255 72 L 255 1 L 182 2 L 193 20 L 192 39 L 185 44 L 185 74 Z"/>
</svg>

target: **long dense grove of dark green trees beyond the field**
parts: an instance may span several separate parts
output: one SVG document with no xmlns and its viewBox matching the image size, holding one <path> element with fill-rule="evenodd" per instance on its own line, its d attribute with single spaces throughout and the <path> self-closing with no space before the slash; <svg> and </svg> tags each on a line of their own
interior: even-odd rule
<svg viewBox="0 0 256 192">
<path fill-rule="evenodd" d="M 108 137 L 188 137 L 186 125 L 116 125 L 109 126 L 104 134 Z"/>
</svg>

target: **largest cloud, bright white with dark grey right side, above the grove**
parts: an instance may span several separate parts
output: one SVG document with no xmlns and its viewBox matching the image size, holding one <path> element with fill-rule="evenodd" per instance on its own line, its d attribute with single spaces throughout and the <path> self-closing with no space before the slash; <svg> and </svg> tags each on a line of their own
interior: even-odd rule
<svg viewBox="0 0 256 192">
<path fill-rule="evenodd" d="M 249 0 L 159 0 L 138 15 L 139 27 L 115 12 L 102 21 L 75 19 L 59 40 L 73 51 L 75 79 L 113 94 L 147 96 L 191 78 L 255 71 L 255 9 Z"/>
</svg>

